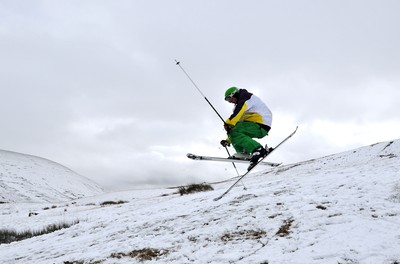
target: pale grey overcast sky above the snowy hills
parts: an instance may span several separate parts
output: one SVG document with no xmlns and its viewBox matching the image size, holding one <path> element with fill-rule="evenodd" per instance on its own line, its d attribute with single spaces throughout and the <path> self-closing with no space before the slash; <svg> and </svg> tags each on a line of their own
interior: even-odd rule
<svg viewBox="0 0 400 264">
<path fill-rule="evenodd" d="M 0 149 L 112 189 L 235 176 L 186 158 L 226 156 L 226 135 L 175 59 L 224 118 L 228 87 L 261 97 L 261 143 L 299 125 L 270 161 L 398 139 L 399 14 L 396 0 L 0 0 Z"/>
</svg>

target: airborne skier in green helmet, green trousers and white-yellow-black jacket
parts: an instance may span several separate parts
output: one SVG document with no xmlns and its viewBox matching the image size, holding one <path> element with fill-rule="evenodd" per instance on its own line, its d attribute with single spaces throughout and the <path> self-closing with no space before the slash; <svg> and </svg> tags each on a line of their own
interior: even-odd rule
<svg viewBox="0 0 400 264">
<path fill-rule="evenodd" d="M 225 100 L 235 106 L 233 114 L 225 121 L 228 138 L 221 140 L 221 145 L 232 144 L 237 152 L 234 157 L 250 157 L 251 168 L 271 151 L 253 139 L 268 135 L 272 124 L 271 110 L 260 98 L 237 87 L 226 90 Z"/>
</svg>

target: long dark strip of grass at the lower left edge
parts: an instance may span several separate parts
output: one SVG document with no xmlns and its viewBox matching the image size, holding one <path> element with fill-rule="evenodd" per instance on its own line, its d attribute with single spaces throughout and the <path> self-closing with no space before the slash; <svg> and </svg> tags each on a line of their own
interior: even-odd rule
<svg viewBox="0 0 400 264">
<path fill-rule="evenodd" d="M 79 221 L 72 223 L 59 223 L 48 225 L 41 230 L 26 230 L 26 231 L 15 231 L 13 229 L 1 229 L 0 230 L 0 244 L 9 244 L 15 241 L 21 241 L 24 239 L 41 236 L 58 231 L 63 228 L 69 228 L 72 225 L 78 224 Z"/>
</svg>

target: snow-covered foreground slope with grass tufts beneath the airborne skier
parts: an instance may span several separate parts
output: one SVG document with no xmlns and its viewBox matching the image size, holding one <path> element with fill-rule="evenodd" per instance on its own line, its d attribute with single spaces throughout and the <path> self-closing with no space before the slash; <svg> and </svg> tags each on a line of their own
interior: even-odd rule
<svg viewBox="0 0 400 264">
<path fill-rule="evenodd" d="M 0 204 L 2 228 L 79 220 L 1 244 L 0 262 L 400 263 L 399 140 L 248 175 L 247 190 L 214 202 L 232 182 L 184 196 L 158 189 Z"/>
</svg>

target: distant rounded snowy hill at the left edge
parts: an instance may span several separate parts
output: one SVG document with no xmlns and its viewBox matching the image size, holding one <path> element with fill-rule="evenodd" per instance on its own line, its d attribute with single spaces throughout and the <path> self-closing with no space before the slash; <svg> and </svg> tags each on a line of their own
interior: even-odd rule
<svg viewBox="0 0 400 264">
<path fill-rule="evenodd" d="M 0 150 L 0 202 L 62 202 L 101 192 L 97 184 L 58 163 Z"/>
</svg>

